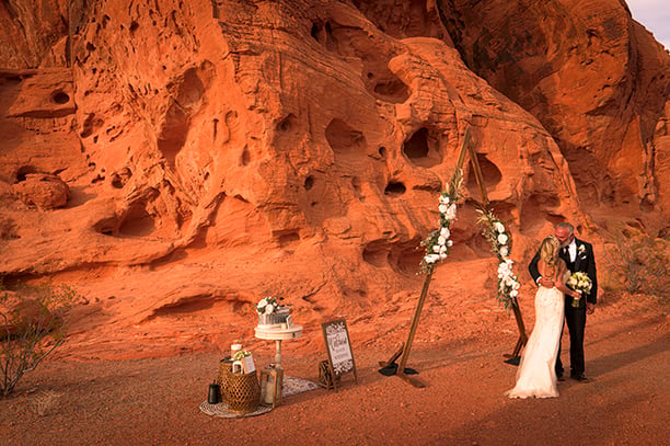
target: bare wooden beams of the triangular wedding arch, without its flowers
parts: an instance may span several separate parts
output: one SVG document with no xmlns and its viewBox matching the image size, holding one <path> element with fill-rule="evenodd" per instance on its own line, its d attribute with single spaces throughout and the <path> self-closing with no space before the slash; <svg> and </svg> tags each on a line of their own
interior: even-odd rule
<svg viewBox="0 0 670 446">
<path fill-rule="evenodd" d="M 488 195 L 486 194 L 486 187 L 484 185 L 484 176 L 482 175 L 482 168 L 480 167 L 480 161 L 477 160 L 477 153 L 471 144 L 470 138 L 470 128 L 465 129 L 465 135 L 463 137 L 463 145 L 461 146 L 461 151 L 459 152 L 459 159 L 457 161 L 455 172 L 460 171 L 463 168 L 463 162 L 465 161 L 465 152 L 470 153 L 470 161 L 472 162 L 473 171 L 475 174 L 475 179 L 477 184 L 480 185 L 480 193 L 482 194 L 483 207 L 488 209 L 489 202 Z M 407 359 L 409 358 L 409 352 L 412 351 L 412 343 L 414 342 L 414 336 L 416 334 L 416 330 L 418 328 L 419 319 L 421 316 L 421 310 L 424 308 L 424 302 L 426 301 L 426 297 L 428 296 L 428 287 L 430 286 L 430 279 L 432 278 L 432 272 L 435 270 L 435 265 L 430 267 L 428 273 L 426 274 L 426 278 L 424 279 L 424 286 L 421 287 L 421 294 L 419 295 L 418 302 L 416 304 L 416 309 L 414 311 L 414 319 L 412 319 L 412 327 L 409 328 L 409 334 L 407 335 L 407 341 L 396 351 L 393 356 L 386 362 L 380 362 L 380 366 L 389 366 L 393 364 L 398 357 L 401 357 L 400 365 L 397 366 L 397 371 L 395 376 L 403 379 L 405 382 L 411 384 L 417 388 L 426 387 L 426 384 L 416 377 L 411 377 L 405 375 L 405 366 L 407 365 Z M 511 355 L 505 355 L 506 357 L 516 358 L 521 351 L 521 348 L 528 342 L 528 335 L 525 334 L 525 327 L 523 325 L 523 319 L 521 318 L 521 310 L 519 309 L 519 305 L 517 300 L 513 299 L 511 301 L 512 310 L 515 312 L 515 318 L 517 319 L 517 327 L 519 328 L 519 340 L 517 341 L 517 345 L 515 346 L 515 351 Z"/>
</svg>

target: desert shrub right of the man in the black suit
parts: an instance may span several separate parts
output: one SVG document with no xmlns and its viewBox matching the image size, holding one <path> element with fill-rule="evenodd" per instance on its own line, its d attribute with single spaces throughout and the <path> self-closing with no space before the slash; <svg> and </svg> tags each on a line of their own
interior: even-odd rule
<svg viewBox="0 0 670 446">
<path fill-rule="evenodd" d="M 631 294 L 670 299 L 670 242 L 638 229 L 619 228 L 605 243 L 607 275 Z"/>
</svg>

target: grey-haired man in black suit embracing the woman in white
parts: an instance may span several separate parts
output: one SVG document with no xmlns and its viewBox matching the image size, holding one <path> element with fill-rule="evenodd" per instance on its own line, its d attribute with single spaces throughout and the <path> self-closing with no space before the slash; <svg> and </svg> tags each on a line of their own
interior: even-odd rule
<svg viewBox="0 0 670 446">
<path fill-rule="evenodd" d="M 596 297 L 598 295 L 593 247 L 586 241 L 575 238 L 575 227 L 569 222 L 556 225 L 555 235 L 561 243 L 558 256 L 565 261 L 570 274 L 576 272 L 587 273 L 593 284 L 591 291 L 588 295 L 582 295 L 579 300 L 579 307 L 573 307 L 573 299 L 565 299 L 565 321 L 570 333 L 570 377 L 578 381 L 588 382 L 589 378 L 584 374 L 584 329 L 586 327 L 587 313 L 592 315 L 596 309 Z M 542 277 L 538 271 L 539 260 L 540 252 L 535 254 L 528 270 L 538 285 L 551 288 L 554 286 L 553 282 Z M 556 357 L 556 377 L 558 380 L 563 380 L 561 348 Z"/>
</svg>

